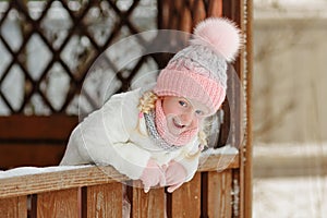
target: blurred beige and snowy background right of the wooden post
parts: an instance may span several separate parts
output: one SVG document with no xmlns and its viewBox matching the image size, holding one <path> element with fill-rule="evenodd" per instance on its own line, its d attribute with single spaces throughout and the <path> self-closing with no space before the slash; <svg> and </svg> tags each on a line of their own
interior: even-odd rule
<svg viewBox="0 0 327 218">
<path fill-rule="evenodd" d="M 327 1 L 254 0 L 254 217 L 326 217 Z"/>
</svg>

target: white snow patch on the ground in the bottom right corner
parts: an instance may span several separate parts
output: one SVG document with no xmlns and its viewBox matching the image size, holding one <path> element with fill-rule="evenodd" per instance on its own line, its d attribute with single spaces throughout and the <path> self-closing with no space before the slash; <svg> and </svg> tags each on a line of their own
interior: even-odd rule
<svg viewBox="0 0 327 218">
<path fill-rule="evenodd" d="M 326 218 L 327 177 L 255 179 L 254 218 Z"/>
</svg>

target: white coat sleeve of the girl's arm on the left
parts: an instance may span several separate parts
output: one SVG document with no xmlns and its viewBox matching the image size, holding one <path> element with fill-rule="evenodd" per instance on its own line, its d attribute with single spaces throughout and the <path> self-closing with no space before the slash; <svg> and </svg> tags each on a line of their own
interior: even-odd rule
<svg viewBox="0 0 327 218">
<path fill-rule="evenodd" d="M 77 125 L 61 165 L 111 165 L 129 178 L 140 179 L 150 154 L 130 142 L 137 112 L 135 116 L 124 99 L 124 95 L 112 97 Z"/>
</svg>

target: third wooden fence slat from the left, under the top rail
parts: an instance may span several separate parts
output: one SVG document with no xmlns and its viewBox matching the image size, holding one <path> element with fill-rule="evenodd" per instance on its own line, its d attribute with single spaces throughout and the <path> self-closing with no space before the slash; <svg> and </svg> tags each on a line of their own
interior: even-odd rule
<svg viewBox="0 0 327 218">
<path fill-rule="evenodd" d="M 123 204 L 123 184 L 120 182 L 93 185 L 86 187 L 86 207 L 87 218 L 122 217 Z M 84 211 L 83 211 L 84 214 Z"/>
</svg>

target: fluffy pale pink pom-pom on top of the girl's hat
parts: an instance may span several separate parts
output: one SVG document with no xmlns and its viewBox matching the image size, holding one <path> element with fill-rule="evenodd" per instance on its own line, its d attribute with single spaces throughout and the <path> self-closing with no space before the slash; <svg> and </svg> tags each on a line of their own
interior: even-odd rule
<svg viewBox="0 0 327 218">
<path fill-rule="evenodd" d="M 234 23 L 227 19 L 211 17 L 195 27 L 191 44 L 209 46 L 230 62 L 239 52 L 241 38 L 241 32 Z"/>
</svg>

